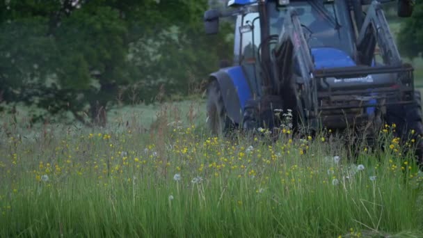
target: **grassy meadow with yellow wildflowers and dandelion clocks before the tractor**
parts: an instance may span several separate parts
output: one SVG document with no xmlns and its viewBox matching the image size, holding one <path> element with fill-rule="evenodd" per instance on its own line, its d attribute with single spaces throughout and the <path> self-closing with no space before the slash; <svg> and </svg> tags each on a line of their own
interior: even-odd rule
<svg viewBox="0 0 423 238">
<path fill-rule="evenodd" d="M 102 129 L 2 118 L 0 237 L 423 237 L 415 141 L 395 125 L 351 157 L 325 129 L 212 136 L 202 101 Z"/>
</svg>

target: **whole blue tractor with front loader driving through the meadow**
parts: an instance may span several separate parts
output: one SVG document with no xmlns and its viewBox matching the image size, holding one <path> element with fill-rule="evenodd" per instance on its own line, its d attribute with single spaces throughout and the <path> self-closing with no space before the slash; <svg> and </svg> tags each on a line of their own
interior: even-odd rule
<svg viewBox="0 0 423 238">
<path fill-rule="evenodd" d="M 423 134 L 413 68 L 401 60 L 383 2 L 231 0 L 225 12 L 207 10 L 207 34 L 218 32 L 219 18 L 236 19 L 233 65 L 209 76 L 209 128 L 278 128 L 276 112 L 292 110 L 294 130 L 363 133 L 386 122 L 401 138 Z M 397 0 L 398 16 L 413 6 Z"/>
</svg>

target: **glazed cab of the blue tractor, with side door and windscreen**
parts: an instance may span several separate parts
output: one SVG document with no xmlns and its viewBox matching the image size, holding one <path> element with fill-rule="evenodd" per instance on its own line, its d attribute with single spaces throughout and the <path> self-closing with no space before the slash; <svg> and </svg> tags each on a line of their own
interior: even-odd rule
<svg viewBox="0 0 423 238">
<path fill-rule="evenodd" d="M 237 15 L 234 64 L 241 65 L 254 94 L 262 95 L 263 70 L 269 70 L 262 64 L 262 52 L 264 47 L 269 47 L 271 53 L 277 45 L 285 31 L 288 9 L 294 8 L 301 20 L 315 69 L 356 65 L 356 32 L 351 17 L 345 14 L 349 13 L 346 1 L 280 2 L 266 2 L 266 19 L 260 18 L 257 1 L 251 1 L 246 13 Z M 239 6 L 241 3 L 232 1 L 229 4 Z M 265 38 L 263 31 L 267 32 Z"/>
</svg>

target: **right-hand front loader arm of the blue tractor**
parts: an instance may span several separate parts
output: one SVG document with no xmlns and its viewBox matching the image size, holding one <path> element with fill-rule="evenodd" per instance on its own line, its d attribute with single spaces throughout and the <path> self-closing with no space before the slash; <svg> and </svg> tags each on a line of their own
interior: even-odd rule
<svg viewBox="0 0 423 238">
<path fill-rule="evenodd" d="M 401 56 L 390 32 L 381 3 L 373 1 L 367 10 L 358 35 L 357 49 L 360 63 L 372 64 L 376 43 L 381 49 L 383 63 L 392 66 L 401 65 Z"/>
</svg>

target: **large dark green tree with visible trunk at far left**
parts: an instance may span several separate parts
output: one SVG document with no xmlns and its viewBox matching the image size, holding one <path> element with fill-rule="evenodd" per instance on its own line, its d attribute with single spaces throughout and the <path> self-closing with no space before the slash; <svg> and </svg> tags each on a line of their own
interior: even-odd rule
<svg viewBox="0 0 423 238">
<path fill-rule="evenodd" d="M 108 6 L 77 5 L 83 1 L 47 1 L 50 4 L 38 6 L 35 2 L 10 1 L 2 14 L 5 100 L 36 104 L 50 113 L 72 111 L 80 120 L 77 112 L 88 102 L 93 121 L 99 118 L 95 122 L 105 125 L 109 95 L 128 83 L 125 22 L 118 10 Z M 54 84 L 46 85 L 48 79 Z"/>
</svg>

